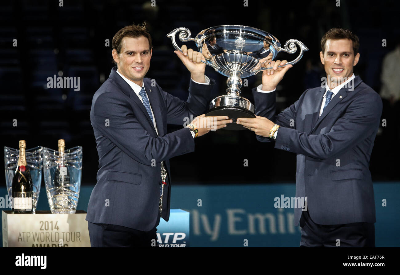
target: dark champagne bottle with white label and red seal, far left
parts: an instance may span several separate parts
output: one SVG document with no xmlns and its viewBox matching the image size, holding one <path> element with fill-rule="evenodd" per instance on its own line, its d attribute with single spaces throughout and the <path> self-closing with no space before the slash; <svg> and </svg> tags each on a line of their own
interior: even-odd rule
<svg viewBox="0 0 400 275">
<path fill-rule="evenodd" d="M 33 184 L 26 165 L 25 140 L 20 140 L 20 155 L 12 179 L 12 213 L 32 213 Z"/>
</svg>

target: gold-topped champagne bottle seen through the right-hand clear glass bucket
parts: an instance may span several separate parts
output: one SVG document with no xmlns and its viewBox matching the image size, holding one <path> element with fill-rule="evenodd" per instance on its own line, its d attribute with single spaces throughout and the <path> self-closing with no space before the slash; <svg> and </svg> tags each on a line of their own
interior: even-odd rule
<svg viewBox="0 0 400 275">
<path fill-rule="evenodd" d="M 58 139 L 58 153 L 60 156 L 60 162 L 56 168 L 56 174 L 54 176 L 54 187 L 56 188 L 56 207 L 67 208 L 68 207 L 68 186 L 70 184 L 70 174 L 66 167 L 66 160 L 64 158 L 65 141 L 64 139 Z"/>
</svg>

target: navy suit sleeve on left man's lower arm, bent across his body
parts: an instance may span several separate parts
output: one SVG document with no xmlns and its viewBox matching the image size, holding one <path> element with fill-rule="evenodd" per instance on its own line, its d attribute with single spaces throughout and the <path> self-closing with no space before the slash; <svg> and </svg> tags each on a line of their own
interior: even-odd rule
<svg viewBox="0 0 400 275">
<path fill-rule="evenodd" d="M 186 128 L 162 137 L 150 136 L 135 117 L 132 107 L 115 92 L 105 92 L 96 98 L 90 120 L 93 128 L 127 155 L 146 165 L 150 165 L 152 159 L 161 161 L 194 151 L 194 139 Z"/>
</svg>

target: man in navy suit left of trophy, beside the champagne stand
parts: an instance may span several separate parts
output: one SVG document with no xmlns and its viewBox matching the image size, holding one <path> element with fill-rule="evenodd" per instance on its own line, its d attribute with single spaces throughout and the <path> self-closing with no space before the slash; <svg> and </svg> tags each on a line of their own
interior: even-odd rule
<svg viewBox="0 0 400 275">
<path fill-rule="evenodd" d="M 156 227 L 170 214 L 169 159 L 194 151 L 194 138 L 232 122 L 205 117 L 214 80 L 199 52 L 175 51 L 191 73 L 187 102 L 144 78 L 152 56 L 145 26 L 126 26 L 112 40 L 117 64 L 93 96 L 90 121 L 99 155 L 88 203 L 92 247 L 157 247 Z M 202 114 L 201 116 L 198 116 Z M 189 118 L 196 117 L 187 127 Z M 167 123 L 182 129 L 167 134 Z"/>
</svg>

